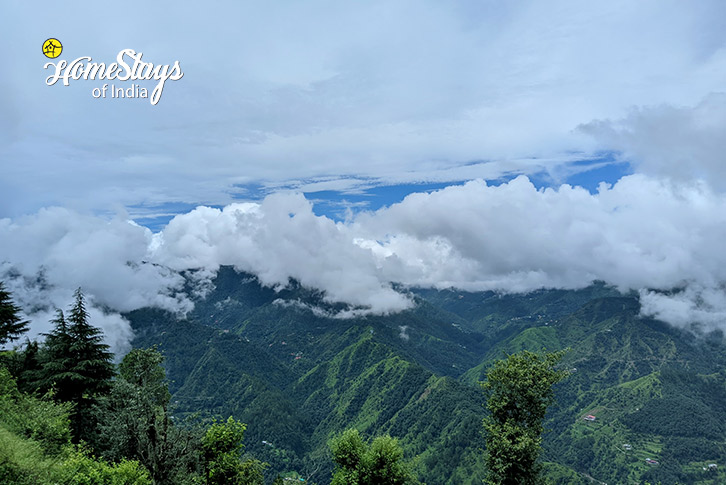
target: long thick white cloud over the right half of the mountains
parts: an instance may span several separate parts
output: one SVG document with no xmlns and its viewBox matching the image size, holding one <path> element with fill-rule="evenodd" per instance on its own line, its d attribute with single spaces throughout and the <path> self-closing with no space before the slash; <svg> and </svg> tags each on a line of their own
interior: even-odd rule
<svg viewBox="0 0 726 485">
<path fill-rule="evenodd" d="M 726 198 L 703 184 L 634 175 L 592 195 L 567 185 L 538 191 L 519 177 L 413 194 L 354 226 L 385 277 L 408 284 L 669 288 L 726 278 L 724 214 Z"/>
</svg>

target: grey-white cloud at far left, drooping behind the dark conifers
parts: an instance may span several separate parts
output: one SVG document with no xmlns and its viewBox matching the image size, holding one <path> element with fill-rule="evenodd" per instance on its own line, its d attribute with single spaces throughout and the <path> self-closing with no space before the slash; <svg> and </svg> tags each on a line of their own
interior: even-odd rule
<svg viewBox="0 0 726 485">
<path fill-rule="evenodd" d="M 0 278 L 32 321 L 31 337 L 50 330 L 81 287 L 94 325 L 115 352 L 129 348 L 131 328 L 117 312 L 152 305 L 192 308 L 178 293 L 183 279 L 147 261 L 151 233 L 122 218 L 105 220 L 61 208 L 0 219 Z"/>
</svg>

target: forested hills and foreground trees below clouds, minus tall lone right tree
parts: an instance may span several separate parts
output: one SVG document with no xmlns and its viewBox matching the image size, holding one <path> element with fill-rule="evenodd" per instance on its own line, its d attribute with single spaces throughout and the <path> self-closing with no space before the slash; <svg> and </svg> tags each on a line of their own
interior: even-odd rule
<svg viewBox="0 0 726 485">
<path fill-rule="evenodd" d="M 117 366 L 80 293 L 43 342 L 5 352 L 0 478 L 344 483 L 339 452 L 355 449 L 350 473 L 370 475 L 363 457 L 388 450 L 411 483 L 478 484 L 480 382 L 508 355 L 546 350 L 563 351 L 537 461 L 548 481 L 724 481 L 723 334 L 641 317 L 637 295 L 409 289 L 411 310 L 342 319 L 295 282 L 223 267 L 213 283 L 185 317 L 126 314 L 134 350 Z"/>
</svg>

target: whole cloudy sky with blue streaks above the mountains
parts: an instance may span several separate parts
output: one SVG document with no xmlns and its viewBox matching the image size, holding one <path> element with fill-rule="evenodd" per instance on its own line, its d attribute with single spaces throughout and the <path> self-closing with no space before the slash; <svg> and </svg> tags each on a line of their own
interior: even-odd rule
<svg viewBox="0 0 726 485">
<path fill-rule="evenodd" d="M 120 312 L 226 264 L 343 317 L 601 280 L 726 326 L 721 1 L 0 8 L 0 279 L 35 334 L 82 286 L 128 347 Z M 47 84 L 124 49 L 183 77 Z"/>
</svg>

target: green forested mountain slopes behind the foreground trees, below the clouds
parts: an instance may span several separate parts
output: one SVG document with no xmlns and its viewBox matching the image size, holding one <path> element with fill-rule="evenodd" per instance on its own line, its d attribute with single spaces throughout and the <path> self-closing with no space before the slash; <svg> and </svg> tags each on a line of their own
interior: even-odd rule
<svg viewBox="0 0 726 485">
<path fill-rule="evenodd" d="M 399 438 L 423 482 L 481 483 L 478 381 L 508 353 L 567 348 L 570 374 L 544 441 L 556 483 L 726 477 L 723 336 L 641 318 L 636 295 L 602 284 L 526 295 L 413 290 L 411 310 L 339 319 L 330 314 L 342 305 L 294 284 L 276 292 L 222 268 L 214 286 L 187 319 L 129 314 L 134 345 L 160 346 L 178 416 L 248 423 L 247 449 L 271 464 L 269 476 L 328 483 L 327 441 L 356 427 Z M 709 463 L 720 471 L 704 471 Z"/>
</svg>

